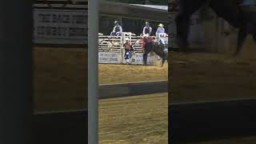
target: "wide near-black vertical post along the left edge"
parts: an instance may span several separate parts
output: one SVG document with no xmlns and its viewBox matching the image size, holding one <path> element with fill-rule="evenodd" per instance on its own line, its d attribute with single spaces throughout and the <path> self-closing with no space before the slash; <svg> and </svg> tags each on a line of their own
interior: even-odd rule
<svg viewBox="0 0 256 144">
<path fill-rule="evenodd" d="M 0 143 L 30 144 L 32 1 L 0 1 Z"/>
</svg>

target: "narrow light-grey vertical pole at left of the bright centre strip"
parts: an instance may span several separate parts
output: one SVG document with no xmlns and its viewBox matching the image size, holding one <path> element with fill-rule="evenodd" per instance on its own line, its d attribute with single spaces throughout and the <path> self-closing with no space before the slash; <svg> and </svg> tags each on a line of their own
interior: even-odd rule
<svg viewBox="0 0 256 144">
<path fill-rule="evenodd" d="M 98 0 L 88 10 L 88 143 L 98 143 Z"/>
</svg>

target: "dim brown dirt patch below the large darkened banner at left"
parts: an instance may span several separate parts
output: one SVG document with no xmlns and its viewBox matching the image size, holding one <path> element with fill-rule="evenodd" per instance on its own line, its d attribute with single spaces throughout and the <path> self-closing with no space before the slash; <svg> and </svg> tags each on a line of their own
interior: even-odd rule
<svg viewBox="0 0 256 144">
<path fill-rule="evenodd" d="M 86 108 L 86 50 L 34 49 L 34 111 Z"/>
</svg>

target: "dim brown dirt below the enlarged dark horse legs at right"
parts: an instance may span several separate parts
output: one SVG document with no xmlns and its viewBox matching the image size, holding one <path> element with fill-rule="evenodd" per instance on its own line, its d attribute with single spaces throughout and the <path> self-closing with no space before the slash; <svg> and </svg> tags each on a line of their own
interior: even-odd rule
<svg viewBox="0 0 256 144">
<path fill-rule="evenodd" d="M 242 53 L 171 52 L 169 102 L 199 102 L 256 97 L 256 45 Z"/>
</svg>

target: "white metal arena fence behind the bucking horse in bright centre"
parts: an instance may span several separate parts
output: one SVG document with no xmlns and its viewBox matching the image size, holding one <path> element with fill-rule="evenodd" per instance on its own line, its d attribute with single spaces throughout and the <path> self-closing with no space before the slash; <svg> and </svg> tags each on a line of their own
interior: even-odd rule
<svg viewBox="0 0 256 144">
<path fill-rule="evenodd" d="M 168 34 L 160 34 L 158 37 L 162 38 L 166 45 L 168 44 Z M 156 41 L 158 41 L 158 37 L 155 38 Z M 134 45 L 134 54 L 130 61 L 131 64 L 142 65 L 142 40 L 140 36 L 130 32 L 124 32 L 122 36 L 98 34 L 98 62 L 115 64 L 126 63 L 124 59 L 124 48 L 122 46 L 126 38 Z M 147 63 L 148 65 L 157 65 L 158 60 L 161 60 L 161 58 L 151 53 L 148 55 Z"/>
</svg>

